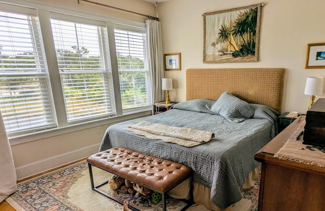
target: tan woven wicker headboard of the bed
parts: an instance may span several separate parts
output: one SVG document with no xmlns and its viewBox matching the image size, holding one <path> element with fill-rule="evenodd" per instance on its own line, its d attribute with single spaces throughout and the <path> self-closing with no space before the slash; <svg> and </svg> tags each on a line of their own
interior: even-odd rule
<svg viewBox="0 0 325 211">
<path fill-rule="evenodd" d="M 186 100 L 217 100 L 224 91 L 281 112 L 284 68 L 187 69 Z"/>
</svg>

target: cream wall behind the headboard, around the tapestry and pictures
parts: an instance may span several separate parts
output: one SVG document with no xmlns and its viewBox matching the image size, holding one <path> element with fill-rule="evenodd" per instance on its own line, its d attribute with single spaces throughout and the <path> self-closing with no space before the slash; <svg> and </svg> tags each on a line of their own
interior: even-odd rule
<svg viewBox="0 0 325 211">
<path fill-rule="evenodd" d="M 258 62 L 203 63 L 203 13 L 264 3 Z M 285 68 L 282 112 L 306 113 L 310 96 L 304 95 L 308 76 L 325 77 L 325 69 L 305 69 L 308 43 L 325 43 L 323 0 L 172 0 L 158 5 L 163 27 L 164 53 L 181 53 L 182 70 L 167 71 L 173 78 L 172 101 L 185 100 L 187 68 Z M 325 93 L 325 92 L 324 92 Z M 316 99 L 322 96 L 316 96 Z"/>
</svg>

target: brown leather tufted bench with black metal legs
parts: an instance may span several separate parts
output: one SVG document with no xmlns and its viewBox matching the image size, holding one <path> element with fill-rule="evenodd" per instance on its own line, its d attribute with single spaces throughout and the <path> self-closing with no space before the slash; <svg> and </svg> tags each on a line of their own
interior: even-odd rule
<svg viewBox="0 0 325 211">
<path fill-rule="evenodd" d="M 91 189 L 120 204 L 123 204 L 123 201 L 98 189 L 107 184 L 108 181 L 94 187 L 91 166 L 96 166 L 118 175 L 121 178 L 161 193 L 161 203 L 164 211 L 167 209 L 166 193 L 189 178 L 189 200 L 184 200 L 187 202 L 187 205 L 181 210 L 185 210 L 193 203 L 192 169 L 183 164 L 146 155 L 123 147 L 116 147 L 96 153 L 90 156 L 87 161 Z M 132 206 L 129 206 L 129 208 L 138 210 Z"/>
</svg>

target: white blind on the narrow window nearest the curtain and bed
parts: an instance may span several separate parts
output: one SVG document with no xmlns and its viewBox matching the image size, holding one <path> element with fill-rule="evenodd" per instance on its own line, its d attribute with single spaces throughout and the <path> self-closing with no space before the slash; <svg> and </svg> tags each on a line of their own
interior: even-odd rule
<svg viewBox="0 0 325 211">
<path fill-rule="evenodd" d="M 151 104 L 146 33 L 115 28 L 122 109 Z"/>
</svg>

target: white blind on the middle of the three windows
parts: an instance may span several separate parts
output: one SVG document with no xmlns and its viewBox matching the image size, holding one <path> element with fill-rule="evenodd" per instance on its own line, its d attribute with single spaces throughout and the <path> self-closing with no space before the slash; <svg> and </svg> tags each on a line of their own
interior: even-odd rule
<svg viewBox="0 0 325 211">
<path fill-rule="evenodd" d="M 115 115 L 107 30 L 51 19 L 68 122 Z"/>
</svg>

